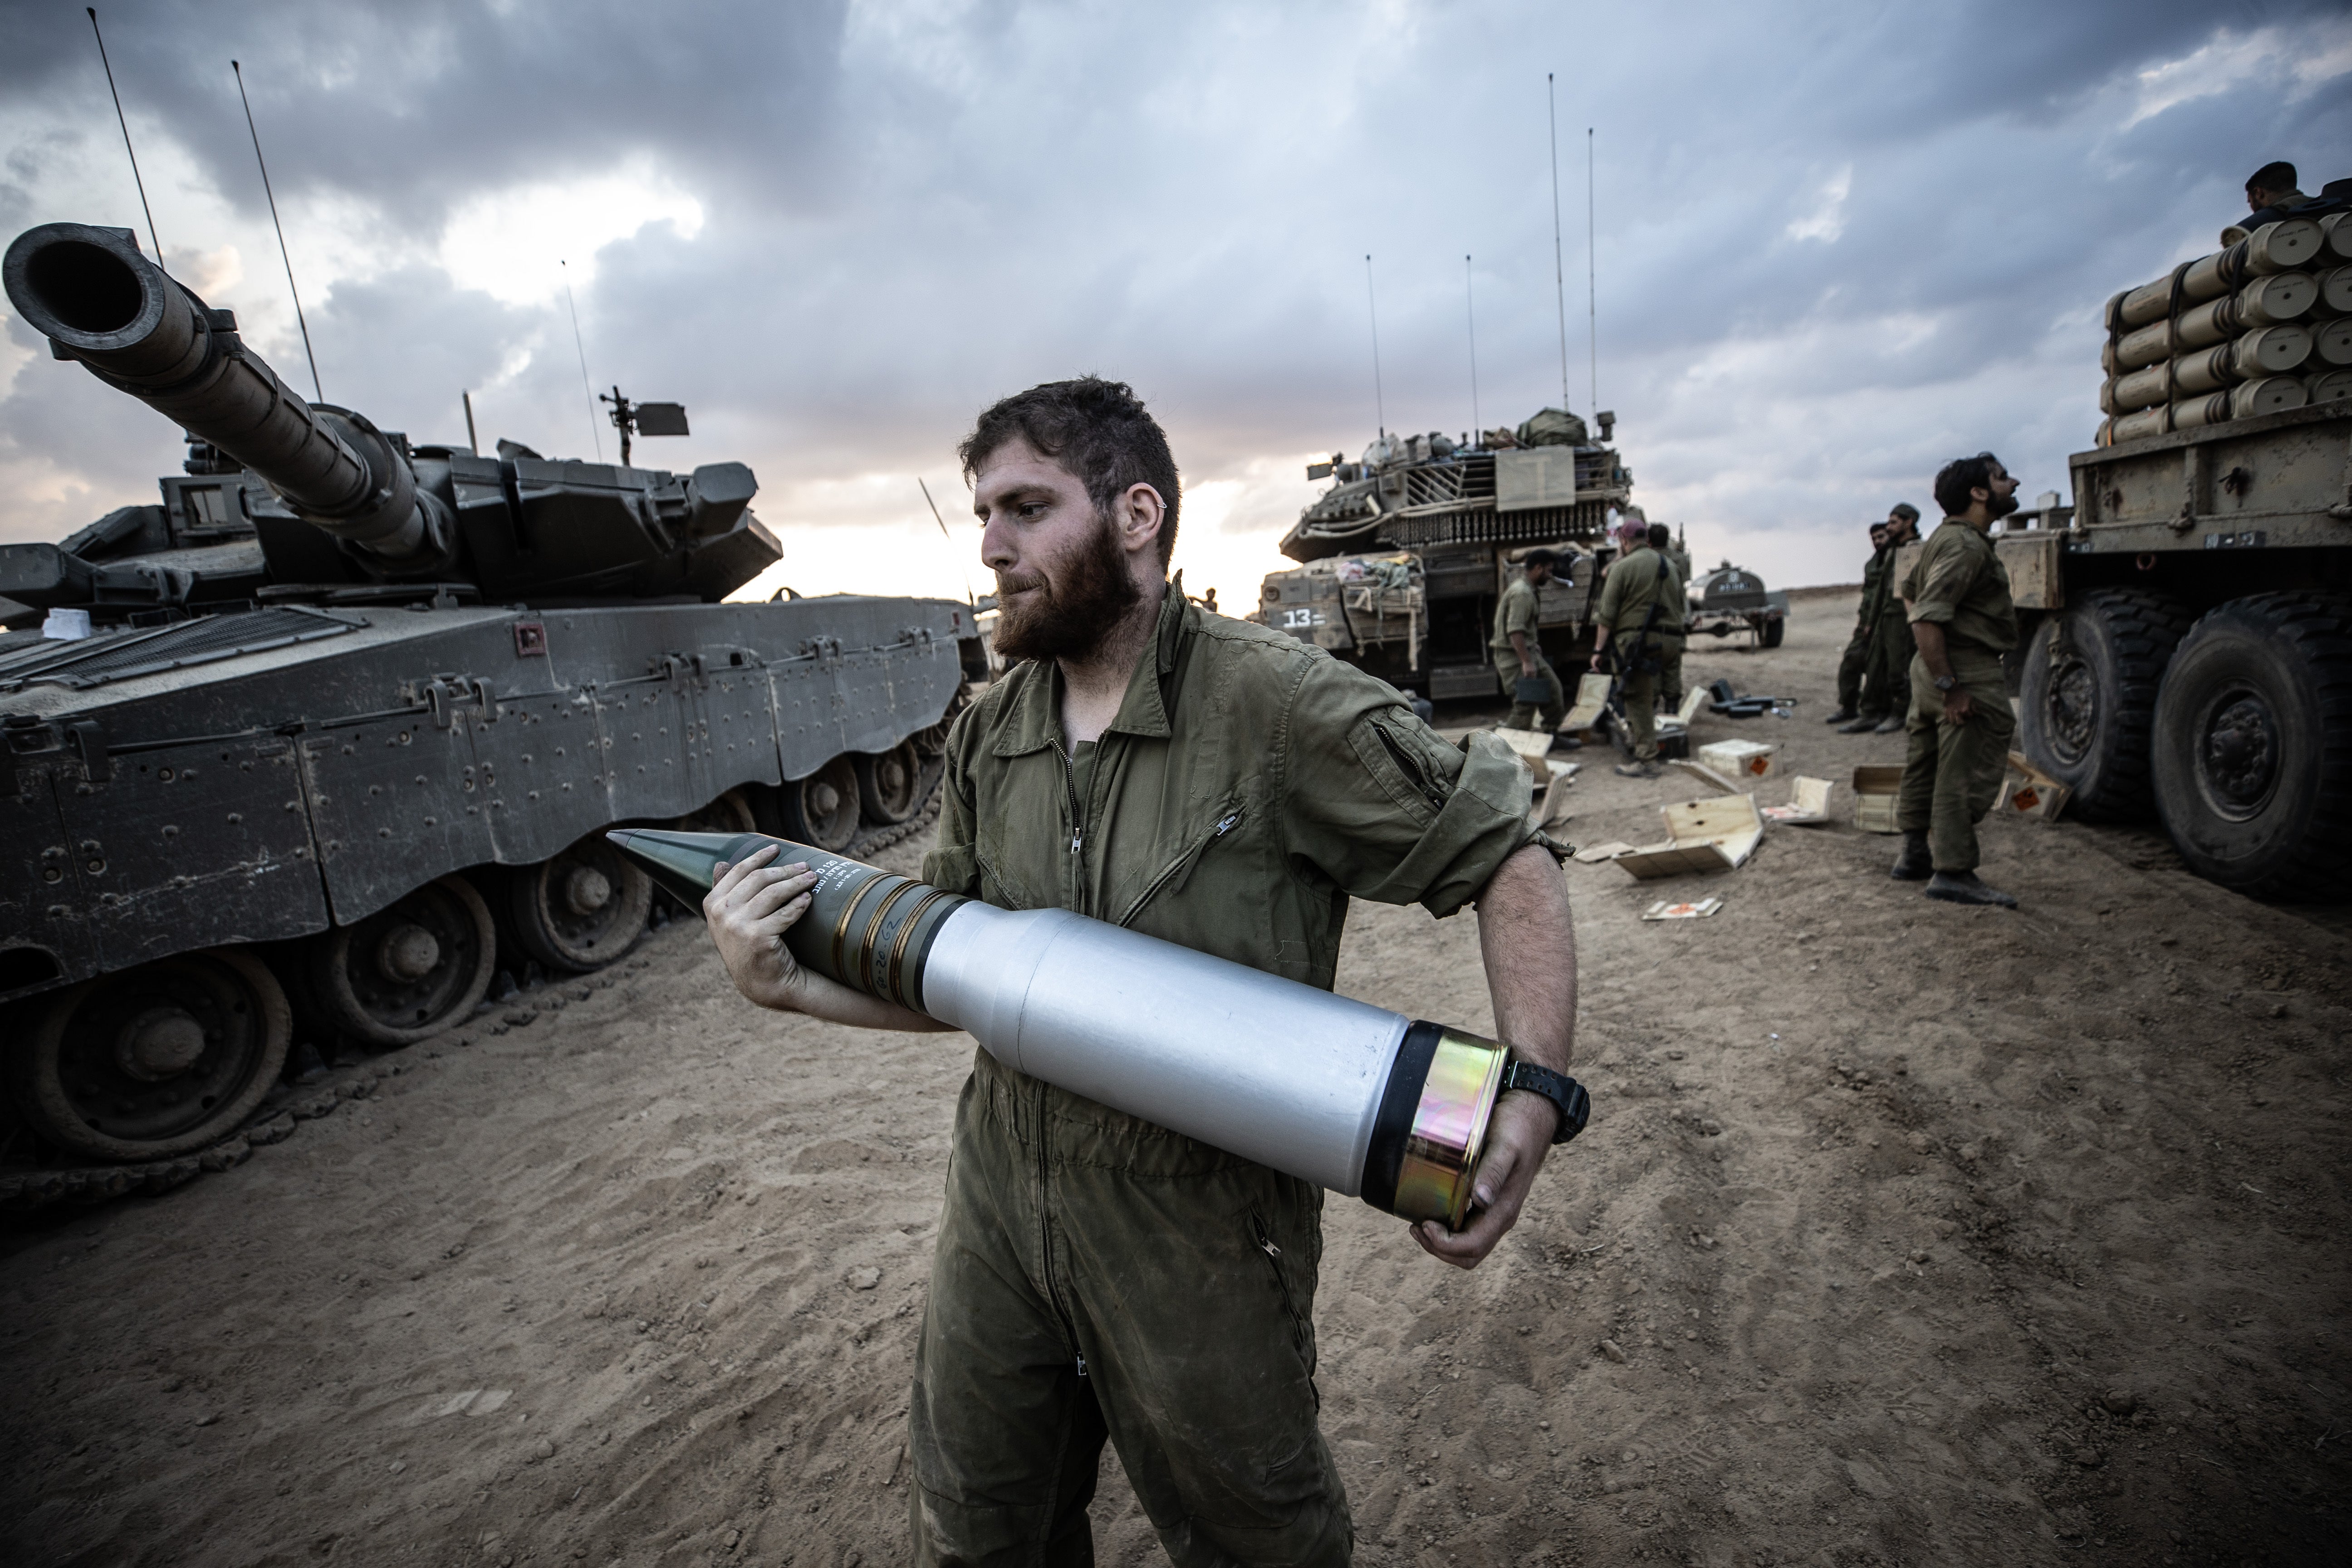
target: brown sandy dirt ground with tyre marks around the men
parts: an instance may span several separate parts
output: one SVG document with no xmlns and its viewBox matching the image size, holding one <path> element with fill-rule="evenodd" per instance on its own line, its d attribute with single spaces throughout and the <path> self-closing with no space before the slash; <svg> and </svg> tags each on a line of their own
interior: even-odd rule
<svg viewBox="0 0 2352 1568">
<path fill-rule="evenodd" d="M 1698 741 L 1900 759 L 1820 724 L 1851 607 L 1696 646 L 1804 698 Z M 1606 762 L 1578 842 L 1705 792 Z M 1331 1201 L 1362 1561 L 2345 1561 L 2343 910 L 2074 823 L 1990 825 L 2023 910 L 1957 910 L 1835 811 L 1703 884 L 1566 867 L 1592 1126 L 1482 1269 Z M 1639 922 L 1663 891 L 1724 910 Z M 1486 1027 L 1475 936 L 1359 905 L 1341 990 Z M 684 922 L 508 1009 L 235 1171 L 0 1234 L 0 1556 L 906 1561 L 969 1041 L 757 1013 Z M 1096 1521 L 1164 1561 L 1115 1458 Z"/>
</svg>

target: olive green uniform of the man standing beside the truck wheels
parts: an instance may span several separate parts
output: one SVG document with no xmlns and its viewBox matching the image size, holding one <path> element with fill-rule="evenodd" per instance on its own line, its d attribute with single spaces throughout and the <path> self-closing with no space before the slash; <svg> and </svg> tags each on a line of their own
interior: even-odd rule
<svg viewBox="0 0 2352 1568">
<path fill-rule="evenodd" d="M 2009 569 L 2002 567 L 1983 529 L 1945 517 L 1929 534 L 1898 597 L 1910 599 L 1915 625 L 1931 621 L 1943 628 L 1945 658 L 1957 682 L 1952 691 L 1969 693 L 1971 712 L 1966 724 L 1943 722 L 1947 693 L 1936 691 L 1926 656 L 1915 654 L 1905 724 L 1910 750 L 1903 759 L 1896 825 L 1903 832 L 1926 830 L 1938 872 L 1973 872 L 1976 825 L 2002 792 L 2009 738 L 2018 729 L 2009 710 L 2009 682 L 2002 675 L 2002 654 L 2018 646 Z"/>
</svg>

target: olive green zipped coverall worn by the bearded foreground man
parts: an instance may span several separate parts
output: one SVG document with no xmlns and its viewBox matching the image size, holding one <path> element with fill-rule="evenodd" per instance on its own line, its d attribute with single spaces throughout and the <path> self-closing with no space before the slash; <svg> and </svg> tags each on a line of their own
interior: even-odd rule
<svg viewBox="0 0 2352 1568">
<path fill-rule="evenodd" d="M 1541 839 L 1501 741 L 1449 745 L 1181 583 L 1101 741 L 1065 750 L 1058 684 L 1016 665 L 955 722 L 924 879 L 1329 987 L 1350 893 L 1454 914 Z M 1176 1563 L 1348 1561 L 1319 1255 L 1319 1190 L 981 1051 L 908 1403 L 915 1561 L 1091 1561 L 1105 1439 Z"/>
</svg>

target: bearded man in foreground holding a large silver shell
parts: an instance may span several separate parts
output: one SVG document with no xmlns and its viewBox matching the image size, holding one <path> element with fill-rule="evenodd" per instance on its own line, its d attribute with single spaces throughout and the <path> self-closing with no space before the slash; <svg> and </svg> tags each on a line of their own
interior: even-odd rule
<svg viewBox="0 0 2352 1568">
<path fill-rule="evenodd" d="M 924 882 L 1327 990 L 1348 896 L 1439 917 L 1475 900 L 1496 1032 L 1564 1070 L 1571 912 L 1519 759 L 1494 736 L 1449 745 L 1395 686 L 1188 604 L 1167 578 L 1176 463 L 1129 388 L 1087 376 L 1007 397 L 962 458 L 997 649 L 1016 663 L 948 736 Z M 703 900 L 746 997 L 946 1027 L 797 969 L 783 933 L 814 879 L 767 856 Z M 1470 1225 L 1414 1239 L 1475 1267 L 1557 1126 L 1550 1098 L 1503 1093 Z M 915 1345 L 913 1561 L 1091 1561 L 1087 1505 L 1115 1441 L 1176 1563 L 1341 1568 L 1352 1526 L 1317 1432 L 1319 1255 L 1315 1187 L 981 1051 Z"/>
</svg>

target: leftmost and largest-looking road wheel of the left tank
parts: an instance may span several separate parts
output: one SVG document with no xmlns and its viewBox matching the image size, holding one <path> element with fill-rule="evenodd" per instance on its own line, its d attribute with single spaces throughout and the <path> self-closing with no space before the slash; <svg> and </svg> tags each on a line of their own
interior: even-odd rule
<svg viewBox="0 0 2352 1568">
<path fill-rule="evenodd" d="M 94 1159 L 169 1159 L 219 1143 L 261 1105 L 294 1013 L 261 959 L 181 952 L 85 980 L 19 1020 L 9 1091 L 49 1143 Z"/>
</svg>

